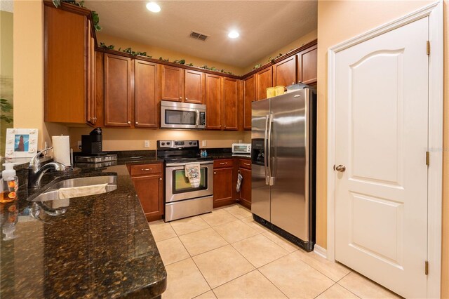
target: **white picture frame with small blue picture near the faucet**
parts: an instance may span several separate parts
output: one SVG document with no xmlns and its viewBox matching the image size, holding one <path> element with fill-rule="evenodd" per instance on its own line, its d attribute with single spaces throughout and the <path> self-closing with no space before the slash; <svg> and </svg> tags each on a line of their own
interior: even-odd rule
<svg viewBox="0 0 449 299">
<path fill-rule="evenodd" d="M 36 128 L 8 128 L 6 129 L 6 158 L 33 157 L 37 152 Z"/>
</svg>

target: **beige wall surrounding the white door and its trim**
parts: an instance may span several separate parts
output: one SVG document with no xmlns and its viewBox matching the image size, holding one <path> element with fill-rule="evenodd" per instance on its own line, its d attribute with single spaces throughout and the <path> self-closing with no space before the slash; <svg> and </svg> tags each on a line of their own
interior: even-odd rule
<svg viewBox="0 0 449 299">
<path fill-rule="evenodd" d="M 326 248 L 327 219 L 327 51 L 328 48 L 358 34 L 395 20 L 434 1 L 319 1 L 318 4 L 318 152 L 317 152 L 317 235 L 316 242 Z M 449 107 L 448 107 L 448 2 L 445 10 L 445 111 L 443 180 L 443 276 L 442 298 L 449 298 Z"/>
</svg>

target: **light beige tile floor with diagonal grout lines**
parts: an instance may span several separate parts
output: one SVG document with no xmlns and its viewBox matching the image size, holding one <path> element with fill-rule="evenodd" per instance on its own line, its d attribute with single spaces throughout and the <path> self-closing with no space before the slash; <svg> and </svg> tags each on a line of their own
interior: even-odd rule
<svg viewBox="0 0 449 299">
<path fill-rule="evenodd" d="M 240 205 L 150 222 L 168 275 L 168 298 L 400 298 L 307 253 L 253 220 Z"/>
</svg>

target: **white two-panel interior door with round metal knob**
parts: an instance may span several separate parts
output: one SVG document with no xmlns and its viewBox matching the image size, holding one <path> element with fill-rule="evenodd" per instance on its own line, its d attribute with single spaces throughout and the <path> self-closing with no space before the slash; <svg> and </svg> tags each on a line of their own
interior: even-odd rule
<svg viewBox="0 0 449 299">
<path fill-rule="evenodd" d="M 427 296 L 429 18 L 335 55 L 335 260 Z"/>
</svg>

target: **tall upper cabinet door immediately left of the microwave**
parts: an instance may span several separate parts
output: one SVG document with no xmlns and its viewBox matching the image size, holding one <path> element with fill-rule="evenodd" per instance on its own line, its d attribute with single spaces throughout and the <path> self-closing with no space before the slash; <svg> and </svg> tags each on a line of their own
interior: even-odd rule
<svg viewBox="0 0 449 299">
<path fill-rule="evenodd" d="M 158 65 L 134 60 L 134 126 L 157 128 L 158 121 Z"/>
</svg>

